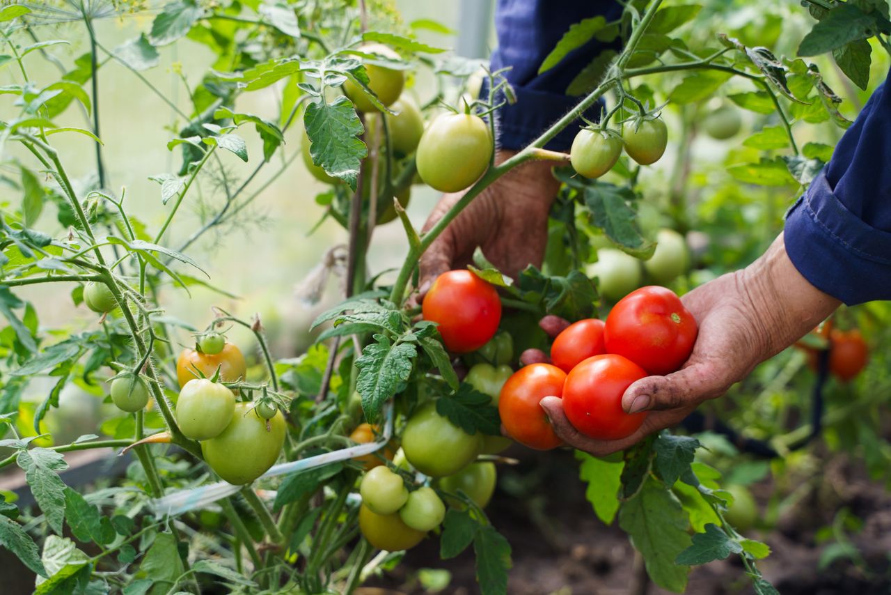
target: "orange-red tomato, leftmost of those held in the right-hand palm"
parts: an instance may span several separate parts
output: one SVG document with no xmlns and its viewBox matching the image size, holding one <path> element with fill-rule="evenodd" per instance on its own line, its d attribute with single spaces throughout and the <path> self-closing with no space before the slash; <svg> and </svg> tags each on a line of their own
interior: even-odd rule
<svg viewBox="0 0 891 595">
<path fill-rule="evenodd" d="M 530 364 L 507 379 L 498 397 L 498 413 L 507 433 L 530 449 L 550 450 L 563 443 L 539 403 L 560 397 L 566 372 L 551 364 Z"/>
</svg>

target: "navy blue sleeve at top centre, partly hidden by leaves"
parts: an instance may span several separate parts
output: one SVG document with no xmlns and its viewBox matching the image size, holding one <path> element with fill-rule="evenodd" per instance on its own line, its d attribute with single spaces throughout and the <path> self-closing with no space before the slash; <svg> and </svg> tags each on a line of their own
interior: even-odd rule
<svg viewBox="0 0 891 595">
<path fill-rule="evenodd" d="M 569 27 L 599 15 L 615 21 L 621 13 L 622 7 L 616 0 L 498 0 L 498 47 L 492 54 L 491 68 L 510 66 L 505 76 L 517 94 L 517 103 L 504 105 L 498 111 L 501 146 L 521 149 L 572 109 L 580 98 L 566 95 L 569 83 L 602 49 L 612 46 L 593 39 L 539 75 L 539 66 Z M 595 105 L 585 117 L 597 120 L 600 109 Z M 568 150 L 577 131 L 576 125 L 568 126 L 546 147 Z"/>
</svg>

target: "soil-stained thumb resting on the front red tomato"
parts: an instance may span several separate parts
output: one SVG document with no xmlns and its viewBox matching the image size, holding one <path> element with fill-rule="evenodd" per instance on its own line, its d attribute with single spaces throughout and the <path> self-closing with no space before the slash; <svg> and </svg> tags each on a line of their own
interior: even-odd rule
<svg viewBox="0 0 891 595">
<path fill-rule="evenodd" d="M 622 395 L 622 409 L 638 413 L 698 405 L 726 392 L 733 380 L 706 364 L 693 364 L 667 376 L 641 378 Z"/>
</svg>

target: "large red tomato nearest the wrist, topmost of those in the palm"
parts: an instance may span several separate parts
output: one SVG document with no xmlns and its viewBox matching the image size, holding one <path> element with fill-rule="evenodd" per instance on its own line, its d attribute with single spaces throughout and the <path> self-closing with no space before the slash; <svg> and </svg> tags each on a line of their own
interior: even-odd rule
<svg viewBox="0 0 891 595">
<path fill-rule="evenodd" d="M 607 353 L 665 376 L 690 357 L 697 330 L 693 315 L 672 290 L 650 285 L 619 300 L 609 312 L 603 338 Z"/>
</svg>

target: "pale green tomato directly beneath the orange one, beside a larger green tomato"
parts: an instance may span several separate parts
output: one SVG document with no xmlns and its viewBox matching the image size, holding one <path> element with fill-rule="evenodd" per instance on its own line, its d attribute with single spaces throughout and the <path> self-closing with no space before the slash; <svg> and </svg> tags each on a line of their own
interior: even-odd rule
<svg viewBox="0 0 891 595">
<path fill-rule="evenodd" d="M 234 410 L 232 391 L 208 378 L 194 378 L 179 392 L 176 425 L 186 438 L 208 440 L 225 430 Z"/>
</svg>

